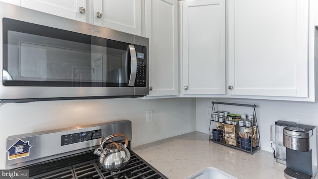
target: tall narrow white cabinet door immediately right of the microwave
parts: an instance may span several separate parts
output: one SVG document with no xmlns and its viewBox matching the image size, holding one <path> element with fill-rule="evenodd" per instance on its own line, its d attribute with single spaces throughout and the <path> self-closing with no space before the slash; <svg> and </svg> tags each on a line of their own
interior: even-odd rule
<svg viewBox="0 0 318 179">
<path fill-rule="evenodd" d="M 145 1 L 149 38 L 148 96 L 178 95 L 178 1 Z"/>
</svg>

